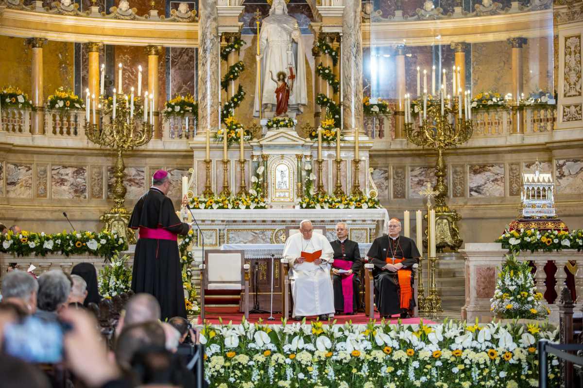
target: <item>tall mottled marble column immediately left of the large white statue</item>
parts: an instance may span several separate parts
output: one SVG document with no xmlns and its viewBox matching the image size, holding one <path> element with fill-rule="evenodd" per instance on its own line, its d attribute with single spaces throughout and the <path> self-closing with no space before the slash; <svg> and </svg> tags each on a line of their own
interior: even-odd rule
<svg viewBox="0 0 583 388">
<path fill-rule="evenodd" d="M 219 127 L 219 15 L 217 2 L 201 0 L 198 13 L 198 127 Z M 212 135 L 211 135 L 212 136 Z"/>
</svg>

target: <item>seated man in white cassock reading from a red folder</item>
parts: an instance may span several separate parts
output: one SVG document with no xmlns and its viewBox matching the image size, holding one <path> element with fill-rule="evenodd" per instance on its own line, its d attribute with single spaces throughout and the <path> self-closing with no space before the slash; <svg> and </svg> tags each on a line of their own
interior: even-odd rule
<svg viewBox="0 0 583 388">
<path fill-rule="evenodd" d="M 334 250 L 325 236 L 313 231 L 312 223 L 303 220 L 300 233 L 290 236 L 283 248 L 283 258 L 290 264 L 291 296 L 294 301 L 292 315 L 296 321 L 308 315 L 319 315 L 321 320 L 325 320 L 334 313 L 334 291 L 330 278 Z M 320 250 L 322 254 L 312 262 L 301 254 Z"/>
</svg>

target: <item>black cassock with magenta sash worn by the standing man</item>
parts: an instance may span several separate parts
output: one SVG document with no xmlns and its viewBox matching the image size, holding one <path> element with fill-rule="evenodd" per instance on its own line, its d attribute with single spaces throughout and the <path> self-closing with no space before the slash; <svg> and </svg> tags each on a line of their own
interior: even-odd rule
<svg viewBox="0 0 583 388">
<path fill-rule="evenodd" d="M 182 268 L 175 236 L 187 234 L 188 224 L 180 222 L 170 198 L 150 187 L 134 207 L 129 227 L 140 229 L 141 234 L 134 255 L 132 290 L 156 297 L 162 320 L 173 316 L 186 318 Z M 159 235 L 166 235 L 166 238 L 152 238 Z"/>
</svg>

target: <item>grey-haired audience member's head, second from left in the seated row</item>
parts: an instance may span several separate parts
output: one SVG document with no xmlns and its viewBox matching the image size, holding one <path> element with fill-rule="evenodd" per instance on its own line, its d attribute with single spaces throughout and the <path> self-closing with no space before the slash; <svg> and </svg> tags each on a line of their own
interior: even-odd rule
<svg viewBox="0 0 583 388">
<path fill-rule="evenodd" d="M 37 312 L 35 316 L 45 321 L 57 321 L 57 314 L 65 307 L 71 293 L 71 282 L 58 269 L 38 277 Z"/>
</svg>

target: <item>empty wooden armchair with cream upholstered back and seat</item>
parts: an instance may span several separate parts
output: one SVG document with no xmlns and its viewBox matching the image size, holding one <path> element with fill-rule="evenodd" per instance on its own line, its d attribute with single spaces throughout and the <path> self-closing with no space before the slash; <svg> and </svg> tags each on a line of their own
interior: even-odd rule
<svg viewBox="0 0 583 388">
<path fill-rule="evenodd" d="M 242 300 L 249 318 L 249 268 L 243 250 L 206 250 L 201 269 L 201 321 L 205 319 L 205 294 L 223 294 Z"/>
</svg>

